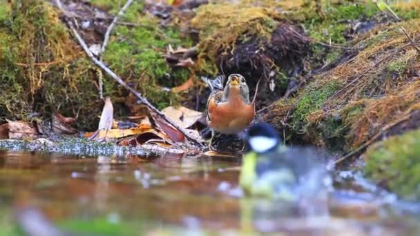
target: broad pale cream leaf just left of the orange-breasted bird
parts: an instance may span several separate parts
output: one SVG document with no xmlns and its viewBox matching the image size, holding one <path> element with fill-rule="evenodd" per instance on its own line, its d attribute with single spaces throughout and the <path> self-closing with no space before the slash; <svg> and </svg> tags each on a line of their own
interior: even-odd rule
<svg viewBox="0 0 420 236">
<path fill-rule="evenodd" d="M 162 113 L 171 118 L 175 124 L 182 128 L 189 128 L 202 117 L 202 112 L 191 110 L 184 106 L 169 106 L 162 110 Z"/>
</svg>

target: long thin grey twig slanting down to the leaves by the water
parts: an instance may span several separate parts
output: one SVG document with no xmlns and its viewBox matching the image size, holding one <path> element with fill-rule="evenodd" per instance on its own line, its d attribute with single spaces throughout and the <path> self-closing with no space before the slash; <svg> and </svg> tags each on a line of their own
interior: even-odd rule
<svg viewBox="0 0 420 236">
<path fill-rule="evenodd" d="M 61 3 L 60 3 L 60 5 L 58 4 L 58 2 L 60 2 L 60 0 L 56 0 L 56 1 L 57 1 L 57 6 L 61 6 Z M 62 8 L 60 10 L 62 10 Z M 73 32 L 73 35 L 75 35 L 75 37 L 76 37 L 77 41 L 79 42 L 80 46 L 82 46 L 82 48 L 84 49 L 84 51 L 86 52 L 86 54 L 88 55 L 88 57 L 93 61 L 93 63 L 95 63 L 100 68 L 102 68 L 102 70 L 104 70 L 109 76 L 111 76 L 113 79 L 115 79 L 115 81 L 117 81 L 118 83 L 120 83 L 121 86 L 123 86 L 126 90 L 128 90 L 129 92 L 131 92 L 135 97 L 137 97 L 137 99 L 140 100 L 140 102 L 142 102 L 142 104 L 146 105 L 152 112 L 155 112 L 155 114 L 158 115 L 158 116 L 160 116 L 160 117 L 162 117 L 162 119 L 164 119 L 164 121 L 168 122 L 175 129 L 177 129 L 180 132 L 182 132 L 182 134 L 185 137 L 187 137 L 187 139 L 193 141 L 193 143 L 195 143 L 195 144 L 198 144 L 198 146 L 204 147 L 203 144 L 200 141 L 198 141 L 197 139 L 195 139 L 195 137 L 191 136 L 189 134 L 189 132 L 187 132 L 186 130 L 184 130 L 184 128 L 182 128 L 182 127 L 178 126 L 177 124 L 175 124 L 175 122 L 173 122 L 169 117 L 166 117 L 166 115 L 164 115 L 162 112 L 160 112 L 160 110 L 158 110 L 158 108 L 155 108 L 145 97 L 142 97 L 142 95 L 140 95 L 139 92 L 135 91 L 133 88 L 131 88 L 130 86 L 128 86 L 120 77 L 118 77 L 118 75 L 115 74 L 115 72 L 113 72 L 110 68 L 108 68 L 108 66 L 106 66 L 102 61 L 99 61 L 93 55 L 93 53 L 89 50 L 89 48 L 86 45 L 86 43 L 84 42 L 84 40 L 82 39 L 82 37 L 77 32 L 75 26 L 73 25 L 73 22 L 72 21 L 69 21 L 68 19 L 66 19 L 66 22 L 67 22 L 68 27 L 70 28 L 70 30 Z"/>
</svg>

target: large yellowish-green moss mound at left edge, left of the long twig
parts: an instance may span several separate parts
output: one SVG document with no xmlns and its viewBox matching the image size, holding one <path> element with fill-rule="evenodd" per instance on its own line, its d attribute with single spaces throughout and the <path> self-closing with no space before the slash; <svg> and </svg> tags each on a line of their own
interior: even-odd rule
<svg viewBox="0 0 420 236">
<path fill-rule="evenodd" d="M 102 106 L 95 70 L 57 10 L 46 1 L 12 1 L 2 3 L 0 19 L 0 117 L 58 111 L 78 116 L 80 128 L 95 126 Z"/>
</svg>

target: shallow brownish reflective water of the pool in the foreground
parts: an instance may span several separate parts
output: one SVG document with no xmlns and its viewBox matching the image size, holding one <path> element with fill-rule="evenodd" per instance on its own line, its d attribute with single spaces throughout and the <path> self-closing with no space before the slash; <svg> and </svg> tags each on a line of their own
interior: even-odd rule
<svg viewBox="0 0 420 236">
<path fill-rule="evenodd" d="M 0 151 L 0 235 L 30 231 L 28 219 L 73 235 L 420 234 L 416 204 L 350 171 L 336 173 L 327 201 L 287 204 L 242 197 L 238 166 L 229 157 Z"/>
</svg>

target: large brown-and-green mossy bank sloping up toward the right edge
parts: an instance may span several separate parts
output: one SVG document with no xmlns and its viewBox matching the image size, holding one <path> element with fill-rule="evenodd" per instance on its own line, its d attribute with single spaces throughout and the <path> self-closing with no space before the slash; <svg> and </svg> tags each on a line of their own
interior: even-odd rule
<svg viewBox="0 0 420 236">
<path fill-rule="evenodd" d="M 307 88 L 298 92 L 295 108 L 276 120 L 284 123 L 285 116 L 291 118 L 289 134 L 294 140 L 347 152 L 408 112 L 418 110 L 420 83 L 415 71 L 420 57 L 417 50 L 404 46 L 408 39 L 399 28 L 416 35 L 419 24 L 419 19 L 412 19 L 377 26 L 372 35 L 364 35 L 356 44 L 364 47 L 358 55 L 314 75 Z M 338 86 L 328 92 L 331 87 L 323 86 L 331 81 Z M 343 86 L 345 89 L 340 89 Z M 325 99 L 325 95 L 332 94 L 333 99 Z"/>
</svg>

